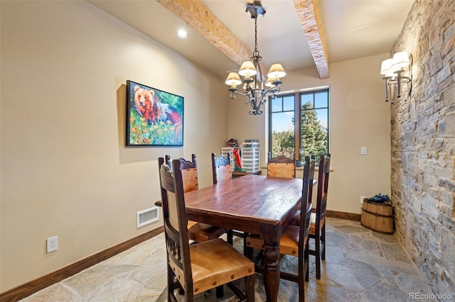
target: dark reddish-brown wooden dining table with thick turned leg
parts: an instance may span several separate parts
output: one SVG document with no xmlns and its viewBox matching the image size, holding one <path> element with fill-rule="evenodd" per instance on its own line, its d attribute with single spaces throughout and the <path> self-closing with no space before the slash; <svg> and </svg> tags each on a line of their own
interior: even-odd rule
<svg viewBox="0 0 455 302">
<path fill-rule="evenodd" d="M 265 293 L 273 302 L 279 292 L 279 240 L 299 209 L 301 189 L 302 179 L 246 175 L 186 193 L 186 215 L 188 220 L 261 235 Z"/>
</svg>

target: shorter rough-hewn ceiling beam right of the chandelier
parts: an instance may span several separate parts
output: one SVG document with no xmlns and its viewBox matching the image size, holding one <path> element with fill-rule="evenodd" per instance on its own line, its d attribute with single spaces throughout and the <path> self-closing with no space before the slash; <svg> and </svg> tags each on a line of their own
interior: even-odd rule
<svg viewBox="0 0 455 302">
<path fill-rule="evenodd" d="M 299 15 L 301 26 L 310 47 L 311 55 L 316 63 L 319 78 L 330 77 L 326 40 L 323 35 L 322 21 L 316 0 L 294 0 L 294 6 Z"/>
</svg>

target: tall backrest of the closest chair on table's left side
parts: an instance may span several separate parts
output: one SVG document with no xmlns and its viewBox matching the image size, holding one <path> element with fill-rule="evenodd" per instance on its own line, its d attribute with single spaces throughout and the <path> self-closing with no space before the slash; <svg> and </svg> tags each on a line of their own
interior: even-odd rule
<svg viewBox="0 0 455 302">
<path fill-rule="evenodd" d="M 186 227 L 185 196 L 181 161 L 172 161 L 172 171 L 164 158 L 159 157 L 159 179 L 161 201 L 163 202 L 164 234 L 166 254 L 171 267 L 176 269 L 176 276 L 183 289 L 193 292 L 188 228 Z"/>
</svg>

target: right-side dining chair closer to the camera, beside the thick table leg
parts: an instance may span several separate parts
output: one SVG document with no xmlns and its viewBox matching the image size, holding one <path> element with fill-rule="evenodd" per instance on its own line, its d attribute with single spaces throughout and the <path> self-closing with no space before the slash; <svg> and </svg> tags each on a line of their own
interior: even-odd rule
<svg viewBox="0 0 455 302">
<path fill-rule="evenodd" d="M 300 211 L 305 213 L 301 216 L 299 225 L 287 225 L 284 228 L 282 237 L 279 240 L 279 253 L 282 255 L 291 255 L 298 257 L 298 274 L 289 272 L 280 272 L 281 279 L 289 280 L 299 284 L 299 301 L 304 302 L 305 286 L 304 281 L 309 279 L 309 229 L 311 216 L 311 186 L 314 179 L 314 160 L 305 157 L 304 176 L 302 181 L 301 208 Z M 262 260 L 262 250 L 264 242 L 259 235 L 249 235 L 247 237 L 247 257 L 253 259 L 254 249 L 261 249 L 258 257 L 255 258 L 255 264 Z M 263 272 L 263 267 L 256 267 L 256 272 Z"/>
</svg>

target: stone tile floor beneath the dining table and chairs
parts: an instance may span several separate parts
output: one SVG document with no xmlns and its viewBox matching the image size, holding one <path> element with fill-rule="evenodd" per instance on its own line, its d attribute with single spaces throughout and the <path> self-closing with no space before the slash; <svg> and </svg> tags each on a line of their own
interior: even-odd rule
<svg viewBox="0 0 455 302">
<path fill-rule="evenodd" d="M 394 235 L 373 232 L 356 221 L 327 218 L 326 223 L 326 261 L 316 280 L 310 255 L 306 301 L 408 301 L 409 293 L 432 293 Z M 242 239 L 236 238 L 235 245 L 241 249 Z M 292 271 L 296 263 L 295 257 L 284 256 L 280 265 Z M 257 274 L 255 282 L 255 300 L 265 301 L 262 275 Z M 297 292 L 297 284 L 282 280 L 278 300 L 297 301 Z M 166 301 L 164 235 L 22 301 Z M 215 291 L 201 293 L 196 301 L 216 301 Z M 220 301 L 237 299 L 225 289 Z"/>
</svg>

